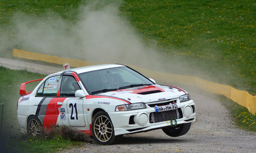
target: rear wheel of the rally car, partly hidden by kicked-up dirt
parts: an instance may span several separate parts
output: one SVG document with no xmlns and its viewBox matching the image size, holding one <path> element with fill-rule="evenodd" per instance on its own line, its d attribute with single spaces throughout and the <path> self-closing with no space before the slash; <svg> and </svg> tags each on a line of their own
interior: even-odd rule
<svg viewBox="0 0 256 153">
<path fill-rule="evenodd" d="M 44 136 L 44 130 L 41 122 L 37 117 L 31 116 L 28 118 L 28 124 L 26 127 L 29 136 L 42 137 Z"/>
</svg>

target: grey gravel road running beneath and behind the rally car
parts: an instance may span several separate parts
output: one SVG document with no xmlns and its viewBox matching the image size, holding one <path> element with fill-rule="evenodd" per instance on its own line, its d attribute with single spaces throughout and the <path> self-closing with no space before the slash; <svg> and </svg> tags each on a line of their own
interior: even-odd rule
<svg viewBox="0 0 256 153">
<path fill-rule="evenodd" d="M 2 58 L 0 65 L 43 74 L 62 69 Z M 230 112 L 213 94 L 193 88 L 187 91 L 197 106 L 197 121 L 187 134 L 169 137 L 162 130 L 154 130 L 124 135 L 116 145 L 85 143 L 80 148 L 65 152 L 256 152 L 256 133 L 236 128 Z"/>
</svg>

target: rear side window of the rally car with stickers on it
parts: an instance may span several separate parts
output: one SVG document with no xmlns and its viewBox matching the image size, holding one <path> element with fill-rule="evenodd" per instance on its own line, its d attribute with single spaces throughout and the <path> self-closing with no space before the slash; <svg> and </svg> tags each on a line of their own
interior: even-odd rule
<svg viewBox="0 0 256 153">
<path fill-rule="evenodd" d="M 37 96 L 57 96 L 60 75 L 46 79 L 37 91 Z"/>
</svg>

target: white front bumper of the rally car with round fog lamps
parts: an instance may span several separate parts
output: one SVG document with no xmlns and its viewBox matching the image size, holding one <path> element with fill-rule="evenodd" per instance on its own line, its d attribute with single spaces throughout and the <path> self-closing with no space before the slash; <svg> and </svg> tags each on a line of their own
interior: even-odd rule
<svg viewBox="0 0 256 153">
<path fill-rule="evenodd" d="M 156 109 L 148 106 L 145 109 L 134 111 L 109 112 L 115 135 L 138 133 L 154 130 L 174 124 L 191 123 L 195 121 L 195 103 L 193 100 L 178 103 L 178 109 L 164 112 L 156 112 Z M 172 123 L 171 123 L 172 120 Z"/>
</svg>

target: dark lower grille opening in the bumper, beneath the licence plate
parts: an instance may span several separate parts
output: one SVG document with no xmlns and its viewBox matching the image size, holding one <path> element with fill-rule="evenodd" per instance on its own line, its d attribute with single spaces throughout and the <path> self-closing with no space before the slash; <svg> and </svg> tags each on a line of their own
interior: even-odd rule
<svg viewBox="0 0 256 153">
<path fill-rule="evenodd" d="M 150 123 L 159 123 L 163 121 L 170 121 L 171 119 L 183 118 L 181 109 L 171 111 L 152 112 L 150 114 Z"/>
</svg>

